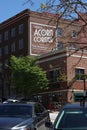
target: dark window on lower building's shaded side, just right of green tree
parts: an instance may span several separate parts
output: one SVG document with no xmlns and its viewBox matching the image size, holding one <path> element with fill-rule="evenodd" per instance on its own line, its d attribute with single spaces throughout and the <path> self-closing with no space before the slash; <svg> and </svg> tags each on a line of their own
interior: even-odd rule
<svg viewBox="0 0 87 130">
<path fill-rule="evenodd" d="M 57 82 L 57 78 L 60 75 L 59 69 L 54 69 L 50 71 L 50 80 L 51 82 Z"/>
</svg>

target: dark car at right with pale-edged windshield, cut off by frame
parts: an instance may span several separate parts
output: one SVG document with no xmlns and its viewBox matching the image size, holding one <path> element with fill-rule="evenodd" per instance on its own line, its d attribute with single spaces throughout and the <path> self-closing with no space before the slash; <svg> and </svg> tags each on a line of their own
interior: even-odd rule
<svg viewBox="0 0 87 130">
<path fill-rule="evenodd" d="M 54 124 L 46 122 L 46 127 L 50 130 L 87 130 L 87 103 L 65 105 Z"/>
</svg>

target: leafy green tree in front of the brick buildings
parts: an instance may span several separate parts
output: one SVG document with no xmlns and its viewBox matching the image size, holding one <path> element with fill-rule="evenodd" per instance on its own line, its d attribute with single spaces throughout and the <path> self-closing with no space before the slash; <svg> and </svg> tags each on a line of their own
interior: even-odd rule
<svg viewBox="0 0 87 130">
<path fill-rule="evenodd" d="M 46 72 L 36 64 L 36 61 L 36 58 L 31 56 L 11 57 L 11 83 L 15 86 L 17 94 L 31 96 L 47 89 Z"/>
</svg>

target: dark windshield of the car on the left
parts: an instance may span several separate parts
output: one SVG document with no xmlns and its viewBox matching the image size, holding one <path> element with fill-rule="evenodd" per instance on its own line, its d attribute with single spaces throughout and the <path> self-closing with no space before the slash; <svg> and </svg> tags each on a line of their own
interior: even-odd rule
<svg viewBox="0 0 87 130">
<path fill-rule="evenodd" d="M 32 106 L 26 105 L 2 105 L 0 106 L 0 117 L 31 117 Z"/>
</svg>

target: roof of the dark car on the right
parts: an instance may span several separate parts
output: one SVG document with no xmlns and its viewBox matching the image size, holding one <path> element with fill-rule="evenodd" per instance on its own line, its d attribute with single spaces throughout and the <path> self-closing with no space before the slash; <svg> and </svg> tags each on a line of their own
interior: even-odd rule
<svg viewBox="0 0 87 130">
<path fill-rule="evenodd" d="M 78 103 L 68 103 L 64 106 L 64 108 L 87 108 L 87 102 L 85 104 Z"/>
</svg>

